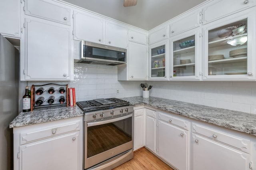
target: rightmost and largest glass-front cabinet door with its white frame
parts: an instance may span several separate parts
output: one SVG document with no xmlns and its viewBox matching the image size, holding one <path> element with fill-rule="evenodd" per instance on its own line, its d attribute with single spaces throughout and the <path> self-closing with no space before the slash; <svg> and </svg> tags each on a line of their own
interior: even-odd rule
<svg viewBox="0 0 256 170">
<path fill-rule="evenodd" d="M 209 24 L 204 32 L 203 79 L 255 79 L 254 20 L 251 12 Z"/>
</svg>

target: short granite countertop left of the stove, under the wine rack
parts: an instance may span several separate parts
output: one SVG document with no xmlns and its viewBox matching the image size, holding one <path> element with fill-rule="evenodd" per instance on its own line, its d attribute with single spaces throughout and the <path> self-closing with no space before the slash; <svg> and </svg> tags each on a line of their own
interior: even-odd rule
<svg viewBox="0 0 256 170">
<path fill-rule="evenodd" d="M 32 112 L 20 113 L 9 125 L 10 128 L 34 125 L 61 119 L 83 116 L 84 112 L 78 107 L 54 107 L 36 109 Z"/>
</svg>

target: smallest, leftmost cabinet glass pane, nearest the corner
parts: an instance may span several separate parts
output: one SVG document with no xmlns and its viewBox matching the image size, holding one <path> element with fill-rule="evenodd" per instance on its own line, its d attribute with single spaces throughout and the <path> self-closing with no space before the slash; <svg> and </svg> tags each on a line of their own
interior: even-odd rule
<svg viewBox="0 0 256 170">
<path fill-rule="evenodd" d="M 151 77 L 165 76 L 165 45 L 151 49 Z"/>
</svg>

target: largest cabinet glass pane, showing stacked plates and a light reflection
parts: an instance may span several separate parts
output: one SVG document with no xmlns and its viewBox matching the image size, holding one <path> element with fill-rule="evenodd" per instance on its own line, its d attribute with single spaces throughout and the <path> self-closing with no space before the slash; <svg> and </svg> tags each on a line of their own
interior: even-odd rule
<svg viewBox="0 0 256 170">
<path fill-rule="evenodd" d="M 208 75 L 247 73 L 247 19 L 208 31 Z"/>
</svg>

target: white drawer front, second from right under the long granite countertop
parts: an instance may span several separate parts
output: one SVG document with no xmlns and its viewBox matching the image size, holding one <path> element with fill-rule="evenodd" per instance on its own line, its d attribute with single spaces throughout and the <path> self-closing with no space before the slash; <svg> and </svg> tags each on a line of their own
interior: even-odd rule
<svg viewBox="0 0 256 170">
<path fill-rule="evenodd" d="M 188 121 L 184 121 L 182 119 L 173 117 L 168 113 L 158 112 L 158 119 L 188 130 L 188 125 L 189 125 Z"/>
</svg>

